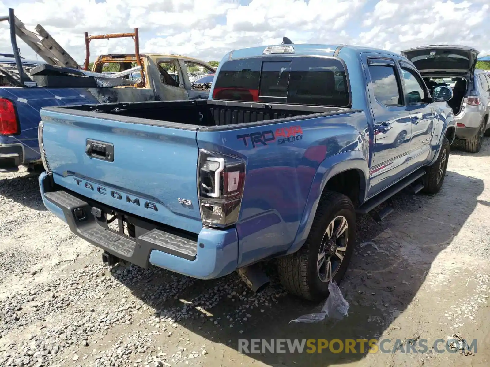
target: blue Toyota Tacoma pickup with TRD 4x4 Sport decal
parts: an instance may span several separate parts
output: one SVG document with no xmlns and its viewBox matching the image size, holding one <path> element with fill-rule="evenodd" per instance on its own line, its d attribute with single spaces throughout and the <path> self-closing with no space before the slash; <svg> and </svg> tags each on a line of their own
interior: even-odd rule
<svg viewBox="0 0 490 367">
<path fill-rule="evenodd" d="M 259 291 L 260 262 L 277 258 L 291 293 L 324 298 L 356 214 L 403 188 L 440 190 L 451 97 L 380 49 L 234 50 L 208 100 L 43 107 L 42 198 L 109 265 L 238 271 Z"/>
</svg>

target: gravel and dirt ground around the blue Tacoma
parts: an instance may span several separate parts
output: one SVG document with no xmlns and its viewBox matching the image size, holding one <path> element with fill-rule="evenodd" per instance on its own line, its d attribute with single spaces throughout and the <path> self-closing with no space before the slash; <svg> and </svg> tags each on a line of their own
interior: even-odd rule
<svg viewBox="0 0 490 367">
<path fill-rule="evenodd" d="M 490 366 L 490 139 L 452 148 L 441 192 L 402 192 L 383 222 L 358 218 L 341 321 L 289 323 L 321 305 L 229 275 L 106 267 L 43 206 L 37 177 L 0 179 L 0 366 Z M 318 312 L 318 311 L 317 311 Z M 474 355 L 435 353 L 457 333 Z M 239 339 L 426 339 L 426 353 L 239 353 Z M 418 342 L 417 342 L 418 343 Z M 439 349 L 444 349 L 444 343 Z"/>
</svg>

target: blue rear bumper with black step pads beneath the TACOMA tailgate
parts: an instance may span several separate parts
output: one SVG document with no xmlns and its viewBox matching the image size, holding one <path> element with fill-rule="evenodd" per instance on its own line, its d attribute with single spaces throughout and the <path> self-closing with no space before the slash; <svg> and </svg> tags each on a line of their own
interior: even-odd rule
<svg viewBox="0 0 490 367">
<path fill-rule="evenodd" d="M 114 256 L 147 268 L 150 264 L 183 275 L 212 279 L 237 268 L 236 229 L 206 229 L 198 235 L 123 214 L 135 225 L 135 237 L 109 229 L 105 215 L 112 208 L 65 190 L 43 172 L 39 177 L 44 205 L 72 232 Z M 75 211 L 75 209 L 77 209 Z"/>
</svg>

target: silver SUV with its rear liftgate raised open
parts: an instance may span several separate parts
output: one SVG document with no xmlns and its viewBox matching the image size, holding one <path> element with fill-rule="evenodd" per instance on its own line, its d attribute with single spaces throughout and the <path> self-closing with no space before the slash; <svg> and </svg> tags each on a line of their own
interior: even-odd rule
<svg viewBox="0 0 490 367">
<path fill-rule="evenodd" d="M 453 89 L 447 102 L 456 119 L 456 137 L 466 151 L 480 151 L 483 136 L 490 136 L 490 76 L 475 69 L 479 51 L 467 46 L 434 45 L 402 51 L 424 77 L 429 91 L 435 85 Z"/>
</svg>

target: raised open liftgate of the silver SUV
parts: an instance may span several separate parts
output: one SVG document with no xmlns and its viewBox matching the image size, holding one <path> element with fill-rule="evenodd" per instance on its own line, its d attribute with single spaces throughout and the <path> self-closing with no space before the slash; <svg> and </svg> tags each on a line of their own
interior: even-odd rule
<svg viewBox="0 0 490 367">
<path fill-rule="evenodd" d="M 432 45 L 411 48 L 401 54 L 424 74 L 473 75 L 480 51 L 467 46 Z"/>
</svg>

